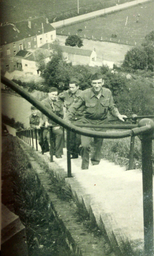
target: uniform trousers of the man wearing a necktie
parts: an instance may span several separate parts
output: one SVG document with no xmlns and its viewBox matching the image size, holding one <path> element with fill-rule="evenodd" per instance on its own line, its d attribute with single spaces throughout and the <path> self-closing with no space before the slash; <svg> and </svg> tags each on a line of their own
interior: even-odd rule
<svg viewBox="0 0 154 256">
<path fill-rule="evenodd" d="M 63 155 L 64 146 L 63 131 L 61 129 L 52 129 L 52 133 L 55 136 L 55 155 L 61 156 Z M 43 142 L 45 142 L 46 137 L 49 138 L 49 128 L 44 128 L 43 130 Z"/>
</svg>

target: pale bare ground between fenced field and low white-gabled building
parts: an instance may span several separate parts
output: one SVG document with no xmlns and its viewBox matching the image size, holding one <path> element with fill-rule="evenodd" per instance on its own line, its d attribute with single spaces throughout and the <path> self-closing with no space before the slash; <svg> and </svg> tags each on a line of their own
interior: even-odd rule
<svg viewBox="0 0 154 256">
<path fill-rule="evenodd" d="M 57 35 L 56 37 L 59 40 L 60 44 L 65 45 L 65 40 L 67 36 Z M 97 53 L 98 62 L 102 62 L 102 60 L 104 60 L 104 62 L 111 61 L 114 62 L 116 65 L 121 65 L 124 60 L 126 52 L 129 51 L 132 48 L 132 46 L 83 39 L 83 46 L 81 48 L 88 50 L 95 49 Z"/>
</svg>

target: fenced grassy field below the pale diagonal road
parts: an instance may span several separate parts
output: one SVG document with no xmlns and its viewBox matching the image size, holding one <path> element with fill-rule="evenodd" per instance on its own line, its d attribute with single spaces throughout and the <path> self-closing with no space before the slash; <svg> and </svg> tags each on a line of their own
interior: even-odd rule
<svg viewBox="0 0 154 256">
<path fill-rule="evenodd" d="M 138 14 L 140 16 L 138 17 Z M 127 18 L 128 17 L 128 18 Z M 136 22 L 139 19 L 139 22 Z M 127 20 L 127 24 L 126 24 Z M 102 37 L 103 41 L 109 41 L 121 44 L 130 44 L 135 46 L 142 43 L 144 37 L 153 30 L 154 20 L 154 4 L 148 2 L 138 4 L 128 9 L 106 14 L 91 20 L 78 22 L 63 28 L 58 28 L 57 34 L 73 35 L 81 28 L 83 32 L 77 33 L 78 36 L 84 35 L 86 38 L 97 40 Z M 125 25 L 126 24 L 126 25 Z M 116 34 L 116 38 L 112 38 L 112 34 Z"/>
</svg>

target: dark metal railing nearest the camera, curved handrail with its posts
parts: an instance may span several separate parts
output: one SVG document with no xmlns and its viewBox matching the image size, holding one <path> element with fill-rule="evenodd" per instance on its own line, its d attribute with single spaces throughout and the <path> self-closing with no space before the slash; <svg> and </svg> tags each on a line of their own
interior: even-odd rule
<svg viewBox="0 0 154 256">
<path fill-rule="evenodd" d="M 52 119 L 57 124 L 61 125 L 67 131 L 67 172 L 68 177 L 71 177 L 71 150 L 70 150 L 70 131 L 76 132 L 81 135 L 96 137 L 96 138 L 106 138 L 106 139 L 118 139 L 131 136 L 135 138 L 139 135 L 142 145 L 142 184 L 143 184 L 143 221 L 144 221 L 144 254 L 145 256 L 154 255 L 154 234 L 153 234 L 153 188 L 152 188 L 152 138 L 154 132 L 154 122 L 149 118 L 143 118 L 139 121 L 138 125 L 121 125 L 122 129 L 128 129 L 126 131 L 120 132 L 98 132 L 85 130 L 81 127 L 75 126 L 73 124 L 68 124 L 58 116 L 56 116 L 49 109 L 44 107 L 42 103 L 32 97 L 28 92 L 19 87 L 14 82 L 10 81 L 5 77 L 1 77 L 3 84 L 9 86 L 15 92 L 19 93 L 23 98 L 28 100 L 37 109 L 39 109 L 44 115 Z M 151 116 L 153 117 L 153 116 Z M 140 117 L 142 118 L 142 116 Z M 128 117 L 127 119 L 133 119 Z M 135 121 L 137 117 L 134 118 Z M 116 119 L 117 120 L 117 119 Z M 83 125 L 82 125 L 83 127 Z M 98 127 L 98 126 L 97 126 Z M 102 125 L 102 128 L 114 128 L 120 129 L 117 125 Z M 35 134 L 37 131 L 35 130 Z M 29 141 L 29 135 L 25 131 L 25 140 Z M 27 136 L 26 136 L 27 134 Z M 22 135 L 23 136 L 23 135 Z M 133 147 L 133 143 L 132 147 Z"/>
</svg>

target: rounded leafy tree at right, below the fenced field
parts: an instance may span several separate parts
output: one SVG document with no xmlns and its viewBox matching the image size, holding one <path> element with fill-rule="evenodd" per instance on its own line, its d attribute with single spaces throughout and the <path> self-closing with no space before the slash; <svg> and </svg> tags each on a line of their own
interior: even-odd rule
<svg viewBox="0 0 154 256">
<path fill-rule="evenodd" d="M 148 65 L 148 56 L 143 48 L 135 47 L 125 55 L 122 66 L 128 69 L 145 69 Z"/>
</svg>

